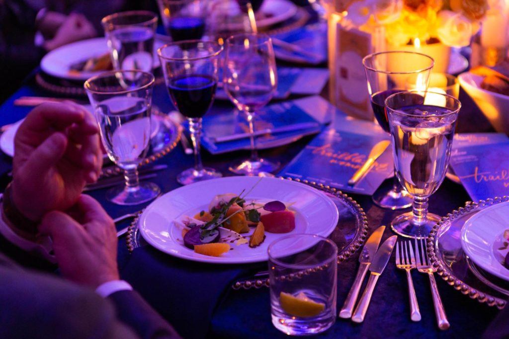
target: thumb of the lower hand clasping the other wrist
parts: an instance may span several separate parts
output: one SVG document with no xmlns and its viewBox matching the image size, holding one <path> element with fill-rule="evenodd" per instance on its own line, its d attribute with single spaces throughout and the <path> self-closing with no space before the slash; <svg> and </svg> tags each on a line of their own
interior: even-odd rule
<svg viewBox="0 0 509 339">
<path fill-rule="evenodd" d="M 75 248 L 82 242 L 83 227 L 69 215 L 60 211 L 46 213 L 39 225 L 39 233 L 48 235 L 53 240 L 53 248 L 58 256 L 58 249 Z"/>
</svg>

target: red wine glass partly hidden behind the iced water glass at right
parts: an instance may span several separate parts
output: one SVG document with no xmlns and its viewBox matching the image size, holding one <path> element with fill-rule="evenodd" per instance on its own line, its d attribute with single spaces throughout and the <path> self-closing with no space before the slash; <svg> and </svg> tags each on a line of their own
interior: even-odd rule
<svg viewBox="0 0 509 339">
<path fill-rule="evenodd" d="M 425 91 L 435 62 L 426 54 L 388 51 L 367 55 L 362 64 L 375 118 L 382 129 L 389 133 L 384 100 L 391 94 L 405 90 Z M 373 194 L 373 202 L 382 208 L 398 210 L 412 206 L 412 196 L 394 177 L 391 188 L 382 186 Z"/>
</svg>

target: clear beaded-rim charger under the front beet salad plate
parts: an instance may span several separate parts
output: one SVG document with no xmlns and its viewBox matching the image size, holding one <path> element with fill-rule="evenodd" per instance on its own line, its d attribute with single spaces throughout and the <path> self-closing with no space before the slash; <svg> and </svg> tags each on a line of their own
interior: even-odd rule
<svg viewBox="0 0 509 339">
<path fill-rule="evenodd" d="M 280 179 L 295 180 L 291 178 Z M 355 200 L 335 188 L 306 180 L 301 182 L 325 192 L 338 209 L 339 219 L 329 238 L 338 246 L 337 261 L 341 264 L 352 256 L 364 243 L 368 233 L 366 214 Z M 139 212 L 138 217 L 142 212 Z M 127 232 L 126 243 L 130 252 L 146 244 L 139 234 L 138 217 L 134 218 L 131 222 Z M 261 274 L 251 279 L 236 281 L 232 288 L 238 290 L 269 286 L 269 279 L 263 273 L 261 272 Z"/>
</svg>

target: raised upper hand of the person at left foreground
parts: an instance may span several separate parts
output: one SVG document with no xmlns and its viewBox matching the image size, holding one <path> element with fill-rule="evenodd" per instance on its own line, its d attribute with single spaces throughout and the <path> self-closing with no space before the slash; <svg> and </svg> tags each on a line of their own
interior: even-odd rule
<svg viewBox="0 0 509 339">
<path fill-rule="evenodd" d="M 28 219 L 73 206 L 102 166 L 98 127 L 76 104 L 34 108 L 14 137 L 12 200 Z"/>
</svg>

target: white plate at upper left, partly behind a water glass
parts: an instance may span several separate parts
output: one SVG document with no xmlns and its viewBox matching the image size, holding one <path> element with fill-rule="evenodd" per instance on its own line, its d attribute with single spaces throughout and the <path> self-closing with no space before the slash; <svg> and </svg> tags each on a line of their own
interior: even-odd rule
<svg viewBox="0 0 509 339">
<path fill-rule="evenodd" d="M 154 68 L 159 67 L 159 59 L 157 58 L 156 50 L 162 45 L 164 45 L 162 41 L 154 39 Z M 69 73 L 71 65 L 102 55 L 106 52 L 108 52 L 106 38 L 94 38 L 73 42 L 56 48 L 44 55 L 44 58 L 41 60 L 41 69 L 54 77 L 84 81 L 101 72 Z"/>
</svg>

